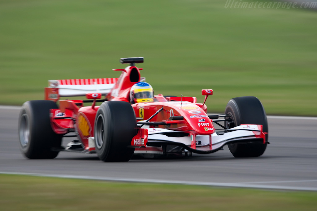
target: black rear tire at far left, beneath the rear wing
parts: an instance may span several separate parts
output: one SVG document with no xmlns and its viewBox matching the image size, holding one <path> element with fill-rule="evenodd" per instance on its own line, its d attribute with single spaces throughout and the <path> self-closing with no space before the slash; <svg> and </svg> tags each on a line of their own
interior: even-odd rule
<svg viewBox="0 0 317 211">
<path fill-rule="evenodd" d="M 56 158 L 53 147 L 61 146 L 62 136 L 56 134 L 50 123 L 49 110 L 57 109 L 55 102 L 32 100 L 25 102 L 19 114 L 19 145 L 30 159 Z"/>
</svg>

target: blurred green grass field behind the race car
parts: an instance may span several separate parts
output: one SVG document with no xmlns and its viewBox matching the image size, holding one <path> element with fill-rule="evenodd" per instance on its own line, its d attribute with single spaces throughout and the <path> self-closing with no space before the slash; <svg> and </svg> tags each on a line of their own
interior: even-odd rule
<svg viewBox="0 0 317 211">
<path fill-rule="evenodd" d="M 225 3 L 0 0 L 0 104 L 43 99 L 48 79 L 119 77 L 120 58 L 143 56 L 156 94 L 213 89 L 208 112 L 257 96 L 267 114 L 317 116 L 316 11 Z"/>
</svg>

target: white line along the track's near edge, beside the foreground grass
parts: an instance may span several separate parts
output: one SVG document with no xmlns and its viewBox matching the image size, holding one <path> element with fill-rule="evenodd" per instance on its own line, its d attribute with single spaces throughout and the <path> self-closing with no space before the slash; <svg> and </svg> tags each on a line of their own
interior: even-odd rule
<svg viewBox="0 0 317 211">
<path fill-rule="evenodd" d="M 234 188 L 317 191 L 317 188 L 314 188 L 314 187 L 260 185 L 260 184 L 249 184 L 249 183 L 210 183 L 210 182 L 174 181 L 174 180 L 156 180 L 156 179 L 142 179 L 141 180 L 141 179 L 126 179 L 126 178 L 113 178 L 113 177 L 91 177 L 91 176 L 74 176 L 74 175 L 58 175 L 58 174 L 32 174 L 32 173 L 16 173 L 16 172 L 0 172 L 0 174 L 28 175 L 28 176 L 37 176 L 37 177 L 57 177 L 57 178 L 71 178 L 71 179 L 89 179 L 89 180 L 102 180 L 102 181 L 112 181 L 112 182 L 161 183 L 161 184 L 204 185 L 204 186 L 234 187 Z M 310 181 L 310 180 L 305 180 L 305 181 Z M 303 182 L 303 180 L 281 181 L 281 182 Z M 277 181 L 275 181 L 275 183 L 277 183 Z"/>
</svg>

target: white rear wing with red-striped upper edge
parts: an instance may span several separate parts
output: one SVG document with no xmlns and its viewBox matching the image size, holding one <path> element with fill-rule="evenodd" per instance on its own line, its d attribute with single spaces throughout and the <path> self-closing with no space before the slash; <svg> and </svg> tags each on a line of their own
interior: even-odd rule
<svg viewBox="0 0 317 211">
<path fill-rule="evenodd" d="M 87 93 L 107 95 L 119 78 L 91 78 L 49 80 L 45 100 L 57 101 L 60 97 L 85 96 Z"/>
</svg>

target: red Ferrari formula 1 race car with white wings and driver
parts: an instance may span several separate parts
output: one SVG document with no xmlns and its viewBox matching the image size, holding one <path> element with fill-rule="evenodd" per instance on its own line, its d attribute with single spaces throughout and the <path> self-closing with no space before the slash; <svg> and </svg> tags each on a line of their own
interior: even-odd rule
<svg viewBox="0 0 317 211">
<path fill-rule="evenodd" d="M 268 123 L 258 98 L 236 97 L 224 114 L 207 115 L 205 102 L 197 103 L 196 97 L 153 95 L 151 85 L 140 77 L 142 68 L 135 66 L 143 60 L 120 59 L 130 65 L 114 69 L 121 72 L 119 78 L 49 80 L 45 100 L 22 106 L 19 142 L 23 154 L 55 158 L 60 151 L 85 152 L 97 153 L 103 161 L 128 161 L 133 154 L 207 154 L 224 145 L 235 157 L 263 154 Z M 212 90 L 202 90 L 202 95 L 206 101 Z M 59 100 L 65 96 L 88 100 Z M 92 105 L 84 106 L 85 102 Z M 102 103 L 96 106 L 96 102 Z M 63 137 L 77 139 L 61 146 Z"/>
</svg>

